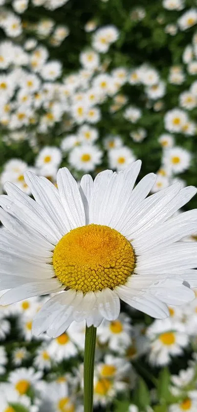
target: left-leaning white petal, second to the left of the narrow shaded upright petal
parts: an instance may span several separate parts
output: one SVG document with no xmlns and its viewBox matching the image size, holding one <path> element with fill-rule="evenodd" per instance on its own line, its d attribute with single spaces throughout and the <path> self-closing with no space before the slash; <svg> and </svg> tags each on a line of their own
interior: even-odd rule
<svg viewBox="0 0 197 412">
<path fill-rule="evenodd" d="M 38 177 L 32 172 L 25 172 L 24 178 L 36 202 L 44 208 L 64 236 L 71 227 L 57 188 L 45 177 Z"/>
</svg>

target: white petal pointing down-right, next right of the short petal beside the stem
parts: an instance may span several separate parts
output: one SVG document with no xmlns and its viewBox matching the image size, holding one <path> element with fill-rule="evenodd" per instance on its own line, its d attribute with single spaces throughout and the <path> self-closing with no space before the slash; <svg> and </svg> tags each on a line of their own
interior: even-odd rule
<svg viewBox="0 0 197 412">
<path fill-rule="evenodd" d="M 169 310 L 165 303 L 160 302 L 151 294 L 143 293 L 133 297 L 131 289 L 127 286 L 120 286 L 116 290 L 119 298 L 134 309 L 138 309 L 157 319 L 164 319 L 169 316 Z"/>
</svg>

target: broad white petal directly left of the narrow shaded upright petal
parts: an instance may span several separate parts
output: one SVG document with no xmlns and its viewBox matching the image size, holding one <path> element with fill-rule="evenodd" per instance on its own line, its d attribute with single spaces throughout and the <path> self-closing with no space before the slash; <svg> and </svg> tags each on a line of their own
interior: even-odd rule
<svg viewBox="0 0 197 412">
<path fill-rule="evenodd" d="M 84 226 L 86 224 L 86 216 L 81 194 L 76 180 L 66 167 L 58 170 L 57 184 L 61 202 L 71 228 Z"/>
</svg>

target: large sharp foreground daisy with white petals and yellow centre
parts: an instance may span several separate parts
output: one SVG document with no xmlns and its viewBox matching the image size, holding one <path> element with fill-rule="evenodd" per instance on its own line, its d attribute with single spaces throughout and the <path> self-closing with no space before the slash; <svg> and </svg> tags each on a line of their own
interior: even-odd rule
<svg viewBox="0 0 197 412">
<path fill-rule="evenodd" d="M 172 216 L 197 190 L 175 183 L 146 198 L 155 175 L 133 189 L 140 166 L 103 171 L 94 182 L 85 175 L 79 187 L 65 167 L 57 188 L 25 172 L 35 200 L 5 184 L 0 280 L 10 290 L 0 304 L 55 293 L 34 318 L 35 334 L 57 337 L 73 320 L 86 319 L 88 326 L 115 321 L 120 300 L 163 319 L 167 304 L 194 299 L 183 282 L 197 287 L 197 244 L 178 241 L 195 233 L 196 210 Z"/>
</svg>

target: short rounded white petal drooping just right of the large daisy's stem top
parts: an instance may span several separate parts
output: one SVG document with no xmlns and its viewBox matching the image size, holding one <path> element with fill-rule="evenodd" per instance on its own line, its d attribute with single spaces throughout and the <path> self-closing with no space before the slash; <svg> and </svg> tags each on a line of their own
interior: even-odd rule
<svg viewBox="0 0 197 412">
<path fill-rule="evenodd" d="M 97 298 L 100 314 L 107 320 L 113 321 L 120 313 L 120 300 L 118 295 L 109 288 L 103 289 Z"/>
</svg>

